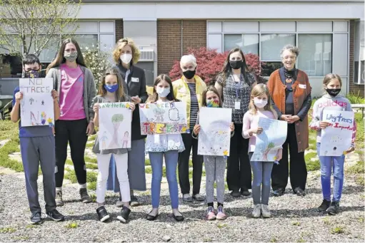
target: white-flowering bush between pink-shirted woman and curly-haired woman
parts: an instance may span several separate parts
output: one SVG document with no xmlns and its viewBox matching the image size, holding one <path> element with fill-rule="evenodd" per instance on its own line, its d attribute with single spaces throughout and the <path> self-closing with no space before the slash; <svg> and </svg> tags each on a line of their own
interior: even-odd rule
<svg viewBox="0 0 365 243">
<path fill-rule="evenodd" d="M 99 44 L 92 45 L 91 47 L 81 48 L 82 55 L 84 56 L 85 64 L 90 69 L 94 76 L 96 90 L 99 88 L 101 77 L 104 75 L 106 69 L 111 67 L 109 58 L 111 52 L 100 51 Z"/>
</svg>

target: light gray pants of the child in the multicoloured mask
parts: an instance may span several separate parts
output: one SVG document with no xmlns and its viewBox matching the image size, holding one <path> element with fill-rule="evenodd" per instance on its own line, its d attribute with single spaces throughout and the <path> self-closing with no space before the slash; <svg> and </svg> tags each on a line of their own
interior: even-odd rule
<svg viewBox="0 0 365 243">
<path fill-rule="evenodd" d="M 214 182 L 216 182 L 216 200 L 223 204 L 226 159 L 223 156 L 204 155 L 204 166 L 206 174 L 206 202 L 214 202 Z"/>
</svg>

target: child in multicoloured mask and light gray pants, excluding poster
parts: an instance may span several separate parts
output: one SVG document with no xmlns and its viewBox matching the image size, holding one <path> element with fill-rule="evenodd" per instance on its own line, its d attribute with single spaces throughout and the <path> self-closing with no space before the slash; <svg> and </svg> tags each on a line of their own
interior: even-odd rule
<svg viewBox="0 0 365 243">
<path fill-rule="evenodd" d="M 221 108 L 222 100 L 218 91 L 214 86 L 209 86 L 205 89 L 202 95 L 202 106 L 210 108 Z M 234 135 L 234 123 L 229 126 L 231 128 L 231 137 Z M 199 114 L 194 126 L 193 138 L 198 139 L 201 126 L 199 125 Z M 204 155 L 204 165 L 206 172 L 206 219 L 207 220 L 224 220 L 226 214 L 223 209 L 224 202 L 224 171 L 226 170 L 226 157 L 224 156 L 210 156 Z M 216 182 L 216 200 L 217 212 L 214 212 L 214 182 Z"/>
</svg>

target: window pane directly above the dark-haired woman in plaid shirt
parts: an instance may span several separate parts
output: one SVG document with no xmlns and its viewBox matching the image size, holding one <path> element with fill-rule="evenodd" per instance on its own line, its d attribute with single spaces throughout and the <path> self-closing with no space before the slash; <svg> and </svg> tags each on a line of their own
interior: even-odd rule
<svg viewBox="0 0 365 243">
<path fill-rule="evenodd" d="M 259 54 L 259 34 L 226 34 L 224 35 L 224 51 L 239 47 L 244 53 Z"/>
</svg>

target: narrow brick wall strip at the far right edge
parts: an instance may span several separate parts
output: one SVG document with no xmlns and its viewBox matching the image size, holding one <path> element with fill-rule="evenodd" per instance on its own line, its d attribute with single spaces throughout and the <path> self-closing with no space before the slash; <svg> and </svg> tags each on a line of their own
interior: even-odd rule
<svg viewBox="0 0 365 243">
<path fill-rule="evenodd" d="M 349 84 L 350 93 L 359 93 L 362 97 L 364 97 L 364 84 L 356 84 L 354 83 L 354 46 L 355 46 L 355 21 L 350 21 L 350 63 L 349 63 Z M 357 81 L 355 81 L 357 82 Z"/>
</svg>

